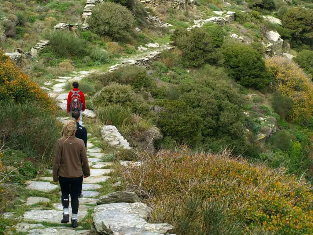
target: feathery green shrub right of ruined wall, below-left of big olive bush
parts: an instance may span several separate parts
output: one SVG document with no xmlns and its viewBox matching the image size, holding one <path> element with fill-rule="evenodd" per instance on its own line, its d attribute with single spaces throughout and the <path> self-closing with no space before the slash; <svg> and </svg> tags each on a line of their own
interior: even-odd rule
<svg viewBox="0 0 313 235">
<path fill-rule="evenodd" d="M 86 55 L 86 41 L 80 39 L 74 34 L 64 30 L 51 30 L 45 34 L 49 39 L 49 46 L 54 53 L 59 56 L 77 56 Z"/>
</svg>

